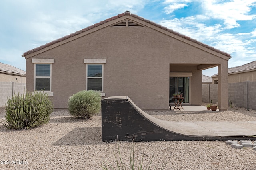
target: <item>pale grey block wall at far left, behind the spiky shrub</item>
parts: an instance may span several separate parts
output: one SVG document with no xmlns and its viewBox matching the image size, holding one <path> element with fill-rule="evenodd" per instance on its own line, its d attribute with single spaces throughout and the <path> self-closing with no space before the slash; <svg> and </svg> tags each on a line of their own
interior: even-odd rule
<svg viewBox="0 0 256 170">
<path fill-rule="evenodd" d="M 4 107 L 7 102 L 7 98 L 12 97 L 12 89 L 13 94 L 23 94 L 25 88 L 26 83 L 14 82 L 12 86 L 12 82 L 0 82 L 0 107 Z"/>
</svg>

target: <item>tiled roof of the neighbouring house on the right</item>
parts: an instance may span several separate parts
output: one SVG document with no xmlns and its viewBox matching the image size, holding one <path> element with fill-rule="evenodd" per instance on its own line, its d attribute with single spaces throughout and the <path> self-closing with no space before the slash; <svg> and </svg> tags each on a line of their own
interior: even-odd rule
<svg viewBox="0 0 256 170">
<path fill-rule="evenodd" d="M 255 70 L 256 70 L 256 61 L 252 61 L 252 62 L 244 64 L 242 66 L 228 68 L 228 74 L 237 74 L 237 73 L 241 73 L 241 72 L 250 72 L 250 71 L 255 71 Z M 216 77 L 216 76 L 218 76 L 218 73 L 212 75 L 212 77 Z"/>
</svg>

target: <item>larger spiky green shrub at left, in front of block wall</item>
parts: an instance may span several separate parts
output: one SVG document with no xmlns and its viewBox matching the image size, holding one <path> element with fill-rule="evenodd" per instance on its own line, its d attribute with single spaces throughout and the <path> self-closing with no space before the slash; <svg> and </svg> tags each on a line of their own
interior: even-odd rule
<svg viewBox="0 0 256 170">
<path fill-rule="evenodd" d="M 5 113 L 8 129 L 32 129 L 49 122 L 53 111 L 52 101 L 48 94 L 41 92 L 26 92 L 23 95 L 14 94 L 8 98 Z"/>
</svg>

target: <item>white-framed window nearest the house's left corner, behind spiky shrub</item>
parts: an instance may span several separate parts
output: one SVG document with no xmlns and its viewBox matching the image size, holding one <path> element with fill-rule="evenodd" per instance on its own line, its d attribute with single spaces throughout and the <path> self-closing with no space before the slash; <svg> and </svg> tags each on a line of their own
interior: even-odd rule
<svg viewBox="0 0 256 170">
<path fill-rule="evenodd" d="M 51 91 L 52 64 L 35 64 L 34 90 Z"/>
</svg>

